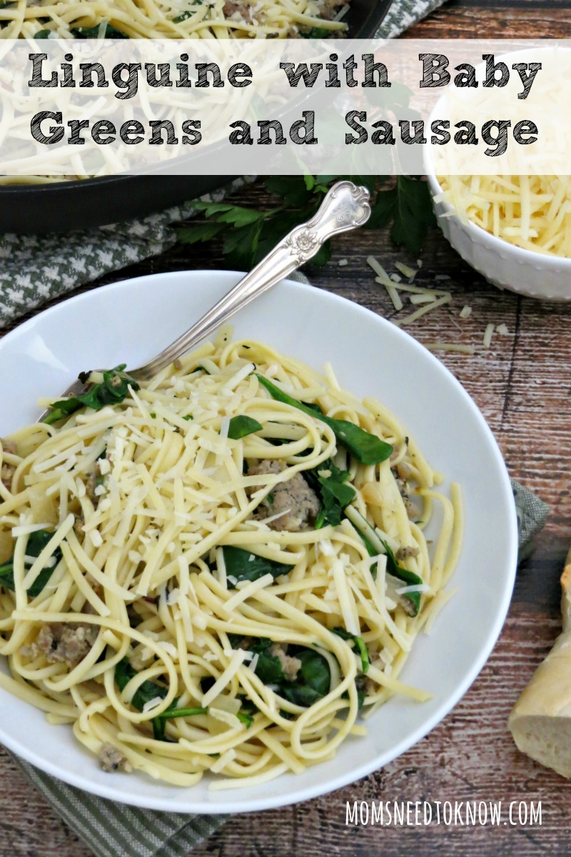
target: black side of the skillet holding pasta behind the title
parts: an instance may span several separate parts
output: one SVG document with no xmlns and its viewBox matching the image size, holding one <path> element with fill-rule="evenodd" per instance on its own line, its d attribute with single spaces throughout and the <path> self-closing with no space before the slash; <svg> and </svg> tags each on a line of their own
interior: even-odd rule
<svg viewBox="0 0 571 857">
<path fill-rule="evenodd" d="M 348 38 L 371 39 L 391 0 L 351 0 Z M 69 232 L 117 223 L 194 199 L 229 176 L 110 176 L 32 185 L 0 185 L 0 232 Z"/>
</svg>

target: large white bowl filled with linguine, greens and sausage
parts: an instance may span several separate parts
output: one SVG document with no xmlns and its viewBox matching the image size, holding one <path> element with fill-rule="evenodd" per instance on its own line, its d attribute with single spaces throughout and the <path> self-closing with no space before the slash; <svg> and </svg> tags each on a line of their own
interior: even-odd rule
<svg viewBox="0 0 571 857">
<path fill-rule="evenodd" d="M 396 758 L 478 674 L 514 582 L 509 478 L 472 400 L 310 286 L 277 285 L 146 389 L 93 376 L 96 407 L 21 430 L 237 278 L 108 285 L 0 343 L 0 740 L 175 812 L 284 806 Z"/>
</svg>

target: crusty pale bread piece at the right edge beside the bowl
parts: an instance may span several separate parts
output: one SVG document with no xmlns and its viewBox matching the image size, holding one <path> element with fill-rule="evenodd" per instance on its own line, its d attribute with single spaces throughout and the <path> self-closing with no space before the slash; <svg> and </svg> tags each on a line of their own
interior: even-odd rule
<svg viewBox="0 0 571 857">
<path fill-rule="evenodd" d="M 571 777 L 571 550 L 561 576 L 563 631 L 509 715 L 518 748 Z"/>
</svg>

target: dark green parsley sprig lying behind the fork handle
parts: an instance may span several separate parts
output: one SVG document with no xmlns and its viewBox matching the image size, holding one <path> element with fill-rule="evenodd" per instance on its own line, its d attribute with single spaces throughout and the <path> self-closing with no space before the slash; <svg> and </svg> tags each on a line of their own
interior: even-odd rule
<svg viewBox="0 0 571 857">
<path fill-rule="evenodd" d="M 390 237 L 418 254 L 426 232 L 434 222 L 428 185 L 419 178 L 397 176 L 273 176 L 265 188 L 280 198 L 280 204 L 260 211 L 231 202 L 196 202 L 204 220 L 179 229 L 181 243 L 195 244 L 223 236 L 224 261 L 229 267 L 248 269 L 256 265 L 288 231 L 312 218 L 332 183 L 348 178 L 371 191 L 372 214 L 366 229 L 390 225 Z M 326 242 L 312 259 L 321 267 L 331 256 Z"/>
</svg>

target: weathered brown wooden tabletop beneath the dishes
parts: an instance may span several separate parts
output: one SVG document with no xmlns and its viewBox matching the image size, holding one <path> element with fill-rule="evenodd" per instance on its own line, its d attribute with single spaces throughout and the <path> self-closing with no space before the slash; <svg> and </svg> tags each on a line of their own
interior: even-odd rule
<svg viewBox="0 0 571 857">
<path fill-rule="evenodd" d="M 453 0 L 408 35 L 433 37 L 558 37 L 571 25 L 568 0 Z M 264 204 L 259 185 L 235 195 Z M 366 256 L 388 270 L 415 260 L 396 249 L 385 232 L 361 231 L 336 241 L 330 264 L 310 270 L 316 287 L 334 291 L 390 317 L 394 310 L 376 285 Z M 349 265 L 339 267 L 339 259 Z M 496 435 L 509 472 L 550 505 L 537 548 L 518 573 L 501 637 L 479 678 L 443 722 L 384 770 L 354 785 L 283 810 L 233 818 L 194 857 L 538 857 L 571 854 L 568 806 L 571 784 L 522 756 L 506 727 L 509 710 L 560 629 L 558 578 L 571 543 L 571 304 L 540 303 L 487 285 L 433 231 L 422 253 L 418 285 L 449 275 L 452 303 L 408 330 L 421 342 L 437 339 L 473 345 L 473 356 L 442 357 L 479 405 Z M 185 268 L 216 268 L 220 246 L 177 246 L 151 261 L 101 282 Z M 440 284 L 441 286 L 443 284 Z M 469 303 L 473 313 L 458 320 Z M 504 322 L 490 349 L 482 339 L 488 322 Z M 485 486 L 483 486 L 485 490 Z M 483 534 L 485 537 L 485 534 Z M 457 641 L 452 641 L 456 644 Z M 0 855 L 88 857 L 91 853 L 0 754 Z M 349 826 L 346 801 L 428 800 L 541 801 L 541 826 Z M 120 857 L 118 854 L 117 857 Z"/>
</svg>

